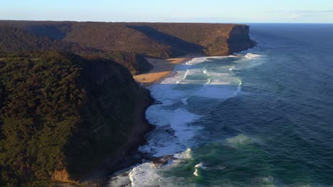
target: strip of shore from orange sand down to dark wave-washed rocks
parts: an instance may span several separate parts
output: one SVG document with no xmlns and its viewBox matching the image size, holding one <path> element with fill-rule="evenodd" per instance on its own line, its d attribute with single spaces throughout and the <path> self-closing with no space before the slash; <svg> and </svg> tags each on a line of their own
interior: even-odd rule
<svg viewBox="0 0 333 187">
<path fill-rule="evenodd" d="M 225 55 L 228 57 L 228 55 Z M 156 102 L 154 98 L 152 98 L 150 91 L 148 89 L 149 86 L 152 86 L 154 84 L 159 84 L 162 82 L 164 79 L 173 77 L 176 75 L 176 72 L 174 72 L 174 69 L 176 65 L 178 64 L 185 64 L 186 62 L 189 62 L 193 60 L 196 57 L 208 57 L 206 55 L 186 55 L 183 57 L 176 57 L 176 58 L 169 58 L 169 59 L 157 59 L 157 58 L 146 58 L 149 63 L 151 63 L 154 67 L 152 70 L 150 70 L 147 73 L 144 74 L 138 74 L 133 76 L 133 79 L 137 81 L 137 84 L 139 84 L 144 91 L 147 91 L 150 97 L 150 101 L 146 103 L 144 110 L 142 111 L 142 120 L 144 120 L 144 123 L 146 125 L 144 130 L 145 132 L 142 133 L 141 135 L 138 135 L 137 139 L 137 144 L 132 146 L 131 148 L 127 149 L 127 152 L 122 152 L 121 156 L 122 157 L 122 162 L 119 164 L 115 164 L 114 169 L 110 169 L 110 165 L 108 166 L 102 166 L 102 168 L 97 169 L 97 173 L 102 171 L 102 177 L 97 176 L 97 180 L 84 180 L 82 183 L 80 183 L 83 186 L 107 186 L 112 181 L 117 181 L 117 174 L 120 174 L 120 172 L 124 172 L 129 174 L 130 169 L 137 165 L 137 164 L 142 164 L 143 160 L 149 160 L 151 162 L 154 162 L 154 164 L 161 164 L 163 163 L 163 160 L 166 159 L 165 157 L 151 157 L 147 154 L 142 154 L 139 152 L 138 148 L 139 146 L 145 145 L 147 143 L 146 140 L 146 135 L 149 132 L 152 132 L 154 130 L 155 125 L 152 125 L 149 123 L 149 121 L 146 118 L 146 111 L 147 108 L 150 106 L 154 105 Z M 120 159 L 118 156 L 117 159 Z M 167 160 L 167 159 L 166 159 Z M 156 163 L 155 163 L 156 162 Z M 104 170 L 104 172 L 103 172 Z M 128 170 L 128 171 L 127 171 Z M 90 178 L 91 179 L 91 178 Z M 96 178 L 95 178 L 96 179 Z M 129 181 L 127 181 L 129 182 Z M 128 183 L 130 184 L 130 183 Z"/>
</svg>

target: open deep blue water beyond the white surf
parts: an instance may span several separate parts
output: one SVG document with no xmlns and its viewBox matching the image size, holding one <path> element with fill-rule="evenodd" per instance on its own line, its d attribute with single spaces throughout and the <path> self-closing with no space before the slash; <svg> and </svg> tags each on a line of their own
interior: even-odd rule
<svg viewBox="0 0 333 187">
<path fill-rule="evenodd" d="M 258 41 L 252 52 L 265 55 L 263 64 L 238 74 L 250 94 L 214 103 L 205 123 L 212 124 L 206 142 L 235 135 L 253 142 L 236 149 L 204 144 L 218 160 L 200 159 L 228 171 L 207 171 L 198 183 L 333 186 L 333 25 L 253 24 L 250 30 Z"/>
</svg>

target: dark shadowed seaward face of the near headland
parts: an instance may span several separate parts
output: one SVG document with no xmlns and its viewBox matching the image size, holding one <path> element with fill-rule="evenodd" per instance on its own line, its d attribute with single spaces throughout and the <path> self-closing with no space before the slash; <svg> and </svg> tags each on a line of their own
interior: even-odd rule
<svg viewBox="0 0 333 187">
<path fill-rule="evenodd" d="M 87 99 L 78 129 L 65 146 L 68 174 L 75 180 L 140 143 L 149 130 L 144 113 L 152 102 L 127 69 L 109 60 L 90 60 L 83 72 Z"/>
</svg>

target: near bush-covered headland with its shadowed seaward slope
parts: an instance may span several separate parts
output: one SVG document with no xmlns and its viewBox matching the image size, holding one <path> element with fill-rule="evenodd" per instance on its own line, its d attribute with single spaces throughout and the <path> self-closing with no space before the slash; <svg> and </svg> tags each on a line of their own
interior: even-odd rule
<svg viewBox="0 0 333 187">
<path fill-rule="evenodd" d="M 1 185 L 77 181 L 136 146 L 149 128 L 148 91 L 110 60 L 62 52 L 7 57 L 0 85 Z"/>
</svg>

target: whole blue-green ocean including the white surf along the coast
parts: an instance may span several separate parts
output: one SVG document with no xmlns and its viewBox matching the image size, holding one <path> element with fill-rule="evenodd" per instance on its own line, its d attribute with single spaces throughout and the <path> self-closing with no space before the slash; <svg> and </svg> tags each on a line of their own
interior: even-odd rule
<svg viewBox="0 0 333 187">
<path fill-rule="evenodd" d="M 139 151 L 169 157 L 122 171 L 129 186 L 333 186 L 333 25 L 249 25 L 253 49 L 149 87 Z"/>
</svg>

